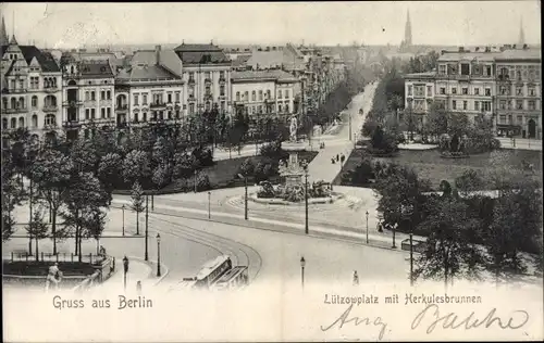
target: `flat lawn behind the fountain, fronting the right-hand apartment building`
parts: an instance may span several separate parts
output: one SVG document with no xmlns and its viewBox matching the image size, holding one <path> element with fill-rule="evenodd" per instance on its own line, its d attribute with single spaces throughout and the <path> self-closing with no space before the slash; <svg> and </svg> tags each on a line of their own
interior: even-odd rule
<svg viewBox="0 0 544 343">
<path fill-rule="evenodd" d="M 497 155 L 503 155 L 500 162 L 497 161 Z M 334 185 L 341 185 L 342 175 L 348 170 L 355 169 L 364 156 L 370 156 L 363 149 L 356 149 L 347 158 L 342 173 L 334 179 Z M 431 180 L 433 188 L 437 189 L 442 180 L 453 182 L 456 177 L 461 176 L 467 168 L 473 168 L 481 172 L 483 175 L 500 163 L 512 169 L 521 173 L 521 164 L 523 161 L 533 164 L 536 175 L 535 179 L 542 178 L 542 156 L 540 151 L 532 150 L 499 150 L 495 152 L 486 152 L 477 155 L 470 155 L 468 158 L 442 158 L 436 149 L 415 151 L 400 150 L 394 157 L 371 157 L 371 160 L 381 160 L 385 162 L 394 162 L 400 165 L 409 165 L 421 178 Z M 347 185 L 346 185 L 347 186 Z"/>
</svg>

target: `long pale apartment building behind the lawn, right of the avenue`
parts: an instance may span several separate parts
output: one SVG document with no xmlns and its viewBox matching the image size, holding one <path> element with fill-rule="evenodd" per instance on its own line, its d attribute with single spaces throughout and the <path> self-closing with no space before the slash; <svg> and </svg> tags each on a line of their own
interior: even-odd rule
<svg viewBox="0 0 544 343">
<path fill-rule="evenodd" d="M 405 109 L 424 123 L 434 102 L 469 119 L 492 118 L 497 135 L 541 139 L 540 63 L 541 51 L 527 46 L 443 51 L 436 71 L 405 76 Z"/>
</svg>

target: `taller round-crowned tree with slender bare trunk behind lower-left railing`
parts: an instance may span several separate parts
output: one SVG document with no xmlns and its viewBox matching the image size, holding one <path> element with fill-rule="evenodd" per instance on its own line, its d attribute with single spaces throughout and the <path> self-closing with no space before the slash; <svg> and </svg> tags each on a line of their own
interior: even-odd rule
<svg viewBox="0 0 544 343">
<path fill-rule="evenodd" d="M 73 189 L 71 158 L 55 150 L 45 150 L 33 164 L 30 174 L 38 198 L 49 204 L 53 254 L 57 254 L 57 215 Z"/>
</svg>

